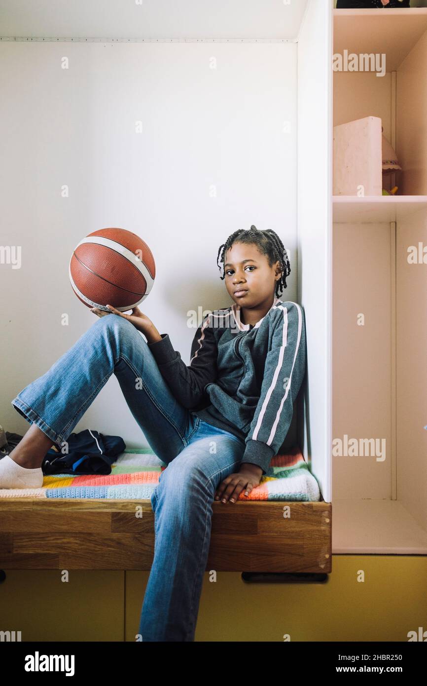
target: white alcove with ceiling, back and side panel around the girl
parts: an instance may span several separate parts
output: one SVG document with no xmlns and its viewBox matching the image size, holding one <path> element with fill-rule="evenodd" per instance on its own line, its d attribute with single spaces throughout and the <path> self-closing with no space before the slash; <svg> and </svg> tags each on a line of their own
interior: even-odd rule
<svg viewBox="0 0 427 686">
<path fill-rule="evenodd" d="M 22 307 L 37 283 L 27 314 L 31 355 L 19 321 L 5 315 L 7 346 L 20 364 L 5 374 L 3 423 L 16 423 L 10 406 L 16 391 L 93 322 L 71 293 L 64 266 L 84 235 L 122 226 L 147 240 L 159 257 L 145 311 L 188 364 L 194 335 L 183 325 L 188 309 L 231 304 L 215 264 L 219 244 L 238 227 L 274 228 L 291 254 L 282 298 L 300 303 L 306 318 L 297 435 L 330 504 L 332 3 L 5 0 L 2 6 L 3 242 L 25 246 L 25 260 L 31 248 L 32 260 L 32 270 L 12 274 L 12 288 L 11 274 L 0 272 L 8 313 Z M 73 65 L 67 72 L 60 68 L 64 56 Z M 213 74 L 212 57 L 220 65 Z M 136 145 L 132 127 L 141 117 Z M 212 202 L 217 177 L 219 198 Z M 71 186 L 66 211 L 58 193 L 64 183 Z M 52 335 L 62 311 L 71 326 Z M 141 445 L 114 382 L 75 430 L 88 423 L 126 436 L 128 447 Z M 317 533 L 326 543 L 316 564 L 325 571 L 327 560 L 330 571 L 329 517 Z M 302 547 L 293 571 L 304 569 L 310 546 Z"/>
</svg>

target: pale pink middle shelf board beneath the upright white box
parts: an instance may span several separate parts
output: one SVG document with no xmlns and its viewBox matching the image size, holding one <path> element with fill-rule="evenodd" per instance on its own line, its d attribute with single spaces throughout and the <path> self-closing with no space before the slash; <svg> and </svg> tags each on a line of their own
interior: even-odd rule
<svg viewBox="0 0 427 686">
<path fill-rule="evenodd" d="M 399 222 L 427 209 L 427 196 L 332 196 L 333 222 L 378 224 Z"/>
</svg>

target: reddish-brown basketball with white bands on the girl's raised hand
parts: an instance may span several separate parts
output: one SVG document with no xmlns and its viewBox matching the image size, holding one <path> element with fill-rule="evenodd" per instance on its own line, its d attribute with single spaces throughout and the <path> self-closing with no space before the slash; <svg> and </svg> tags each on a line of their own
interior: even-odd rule
<svg viewBox="0 0 427 686">
<path fill-rule="evenodd" d="M 71 286 L 86 307 L 121 312 L 142 303 L 156 276 L 154 257 L 142 238 L 125 228 L 101 228 L 74 248 Z"/>
</svg>

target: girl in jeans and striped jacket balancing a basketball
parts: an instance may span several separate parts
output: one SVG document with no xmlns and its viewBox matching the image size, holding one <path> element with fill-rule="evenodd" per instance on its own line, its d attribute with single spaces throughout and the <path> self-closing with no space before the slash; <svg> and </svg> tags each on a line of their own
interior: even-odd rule
<svg viewBox="0 0 427 686">
<path fill-rule="evenodd" d="M 304 314 L 278 297 L 291 272 L 278 235 L 255 226 L 232 233 L 219 247 L 221 270 L 220 252 L 234 304 L 204 318 L 189 366 L 138 307 L 132 315 L 95 311 L 99 320 L 12 401 L 32 426 L 0 460 L 0 488 L 41 486 L 52 442 L 60 449 L 116 375 L 151 449 L 167 463 L 151 496 L 155 548 L 143 641 L 194 640 L 212 501 L 234 504 L 258 486 L 284 442 L 305 375 Z"/>
</svg>

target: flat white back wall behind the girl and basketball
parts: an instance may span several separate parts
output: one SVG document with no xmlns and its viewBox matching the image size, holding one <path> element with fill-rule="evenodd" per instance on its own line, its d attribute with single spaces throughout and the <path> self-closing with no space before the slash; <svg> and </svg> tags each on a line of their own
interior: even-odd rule
<svg viewBox="0 0 427 686">
<path fill-rule="evenodd" d="M 147 241 L 157 277 L 142 309 L 186 364 L 187 312 L 232 304 L 216 260 L 236 228 L 276 230 L 293 270 L 283 297 L 297 299 L 296 62 L 295 43 L 0 45 L 0 244 L 21 246 L 21 268 L 0 264 L 5 430 L 27 430 L 10 401 L 96 320 L 68 276 L 93 230 Z M 147 445 L 115 377 L 85 428 Z"/>
</svg>

